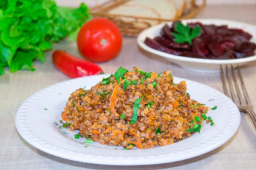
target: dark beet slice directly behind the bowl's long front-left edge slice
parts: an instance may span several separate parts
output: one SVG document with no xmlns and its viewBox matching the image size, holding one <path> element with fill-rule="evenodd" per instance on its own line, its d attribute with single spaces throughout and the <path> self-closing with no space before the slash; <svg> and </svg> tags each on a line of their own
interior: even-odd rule
<svg viewBox="0 0 256 170">
<path fill-rule="evenodd" d="M 154 38 L 154 40 L 156 40 L 156 42 L 168 48 L 173 48 L 177 50 L 191 50 L 191 46 L 189 45 L 189 43 L 177 43 L 177 42 L 174 42 L 173 40 L 168 40 L 160 36 Z"/>
</svg>

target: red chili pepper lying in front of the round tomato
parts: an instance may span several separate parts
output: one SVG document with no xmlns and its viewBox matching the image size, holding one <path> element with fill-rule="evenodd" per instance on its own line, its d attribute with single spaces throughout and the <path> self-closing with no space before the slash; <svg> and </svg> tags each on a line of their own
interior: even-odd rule
<svg viewBox="0 0 256 170">
<path fill-rule="evenodd" d="M 93 62 L 75 57 L 62 50 L 53 52 L 53 63 L 59 71 L 71 78 L 103 73 L 102 69 Z"/>
</svg>

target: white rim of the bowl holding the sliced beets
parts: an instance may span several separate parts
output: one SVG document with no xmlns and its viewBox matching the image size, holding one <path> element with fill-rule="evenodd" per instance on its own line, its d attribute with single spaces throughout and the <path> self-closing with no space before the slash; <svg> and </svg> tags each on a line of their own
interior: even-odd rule
<svg viewBox="0 0 256 170">
<path fill-rule="evenodd" d="M 182 19 L 181 22 L 223 22 L 226 23 L 226 25 L 228 25 L 229 23 L 233 23 L 233 24 L 243 24 L 245 26 L 248 26 L 249 28 L 254 28 L 256 29 L 256 26 L 252 25 L 252 24 L 247 24 L 247 23 L 243 23 L 243 22 L 236 22 L 236 21 L 232 21 L 232 20 L 226 20 L 226 19 Z M 235 59 L 225 59 L 225 60 L 220 60 L 220 59 L 204 59 L 204 58 L 192 58 L 189 56 L 177 56 L 174 54 L 168 54 L 166 52 L 162 52 L 159 50 L 155 50 L 154 48 L 150 48 L 149 46 L 147 46 L 143 40 L 145 40 L 147 33 L 150 32 L 151 30 L 155 30 L 157 28 L 162 28 L 162 26 L 164 26 L 164 24 L 170 24 L 172 22 L 164 22 L 162 24 L 158 24 L 156 26 L 152 26 L 150 28 L 147 28 L 146 30 L 143 30 L 138 36 L 137 36 L 137 44 L 139 44 L 139 46 L 141 48 L 143 48 L 144 50 L 151 52 L 153 54 L 156 54 L 158 56 L 163 56 L 164 58 L 168 58 L 168 59 L 172 59 L 172 60 L 180 60 L 180 61 L 186 61 L 186 62 L 193 62 L 193 63 L 207 63 L 207 64 L 211 64 L 211 65 L 221 65 L 221 64 L 242 64 L 245 62 L 250 62 L 253 60 L 256 60 L 256 54 L 254 56 L 249 56 L 249 57 L 245 57 L 245 58 L 235 58 Z M 218 24 L 217 24 L 218 25 Z M 223 24 L 222 24 L 223 25 Z M 250 34 L 252 34 L 251 32 L 249 32 Z M 256 34 L 252 34 L 254 38 L 256 38 Z"/>
</svg>

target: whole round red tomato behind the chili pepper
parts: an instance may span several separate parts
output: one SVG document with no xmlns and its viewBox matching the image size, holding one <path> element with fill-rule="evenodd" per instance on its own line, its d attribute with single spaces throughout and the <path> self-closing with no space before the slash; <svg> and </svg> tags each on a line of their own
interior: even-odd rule
<svg viewBox="0 0 256 170">
<path fill-rule="evenodd" d="M 94 62 L 107 61 L 117 56 L 122 41 L 119 28 L 103 17 L 86 22 L 77 35 L 79 52 Z"/>
</svg>

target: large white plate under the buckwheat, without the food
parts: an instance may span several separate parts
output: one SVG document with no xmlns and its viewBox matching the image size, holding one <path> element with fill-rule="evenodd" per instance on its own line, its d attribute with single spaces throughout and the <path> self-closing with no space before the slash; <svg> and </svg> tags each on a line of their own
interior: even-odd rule
<svg viewBox="0 0 256 170">
<path fill-rule="evenodd" d="M 240 124 L 240 112 L 226 95 L 206 85 L 174 77 L 175 82 L 187 82 L 187 92 L 192 99 L 211 108 L 218 106 L 217 110 L 210 110 L 207 114 L 214 120 L 214 126 L 205 124 L 200 134 L 195 133 L 180 142 L 156 148 L 123 150 L 96 142 L 84 147 L 83 139 L 74 139 L 77 132 L 63 132 L 54 122 L 61 120 L 61 112 L 71 92 L 85 85 L 86 89 L 90 89 L 102 77 L 108 76 L 63 81 L 26 99 L 15 116 L 15 125 L 22 138 L 41 151 L 73 161 L 102 165 L 151 165 L 181 161 L 212 151 L 230 139 Z"/>
</svg>

